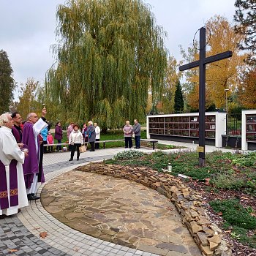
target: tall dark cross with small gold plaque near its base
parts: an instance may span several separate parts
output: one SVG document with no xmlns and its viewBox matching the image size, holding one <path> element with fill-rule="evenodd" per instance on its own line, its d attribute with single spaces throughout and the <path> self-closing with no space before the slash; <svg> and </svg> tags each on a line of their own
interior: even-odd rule
<svg viewBox="0 0 256 256">
<path fill-rule="evenodd" d="M 199 67 L 199 165 L 204 166 L 206 164 L 205 153 L 205 116 L 206 116 L 206 64 L 214 61 L 220 61 L 232 56 L 232 51 L 228 50 L 224 53 L 219 53 L 214 56 L 206 58 L 206 28 L 200 28 L 200 50 L 199 60 L 193 61 L 189 64 L 185 64 L 179 67 L 180 71 Z"/>
</svg>

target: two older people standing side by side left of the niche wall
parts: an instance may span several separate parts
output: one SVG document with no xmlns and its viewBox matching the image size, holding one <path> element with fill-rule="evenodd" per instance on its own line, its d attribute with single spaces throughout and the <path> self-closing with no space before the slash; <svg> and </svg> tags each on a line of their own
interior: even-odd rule
<svg viewBox="0 0 256 256">
<path fill-rule="evenodd" d="M 124 126 L 124 143 L 125 148 L 132 148 L 132 136 L 134 135 L 135 138 L 135 148 L 140 148 L 140 123 L 137 119 L 134 120 L 134 125 L 132 127 L 131 124 L 129 124 L 129 121 L 126 121 L 126 124 Z"/>
</svg>

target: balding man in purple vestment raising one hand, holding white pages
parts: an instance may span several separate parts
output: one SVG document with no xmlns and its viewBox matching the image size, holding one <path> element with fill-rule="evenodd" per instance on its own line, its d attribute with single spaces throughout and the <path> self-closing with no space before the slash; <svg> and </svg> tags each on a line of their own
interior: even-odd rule
<svg viewBox="0 0 256 256">
<path fill-rule="evenodd" d="M 42 110 L 41 118 L 38 118 L 36 113 L 29 113 L 27 122 L 23 127 L 22 143 L 29 148 L 29 157 L 25 159 L 23 164 L 23 173 L 29 200 L 37 200 L 40 198 L 35 195 L 37 192 L 37 182 L 45 182 L 42 163 L 39 162 L 39 133 L 42 129 L 48 127 L 48 124 L 45 122 L 45 114 L 45 108 Z"/>
</svg>

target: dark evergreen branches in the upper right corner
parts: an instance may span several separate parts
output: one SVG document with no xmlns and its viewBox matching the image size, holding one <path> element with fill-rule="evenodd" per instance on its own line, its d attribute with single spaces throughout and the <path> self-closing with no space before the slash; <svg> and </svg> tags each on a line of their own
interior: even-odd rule
<svg viewBox="0 0 256 256">
<path fill-rule="evenodd" d="M 236 0 L 236 15 L 234 16 L 237 24 L 236 31 L 245 35 L 244 42 L 240 44 L 242 50 L 249 50 L 249 64 L 256 65 L 256 1 L 255 0 Z"/>
</svg>

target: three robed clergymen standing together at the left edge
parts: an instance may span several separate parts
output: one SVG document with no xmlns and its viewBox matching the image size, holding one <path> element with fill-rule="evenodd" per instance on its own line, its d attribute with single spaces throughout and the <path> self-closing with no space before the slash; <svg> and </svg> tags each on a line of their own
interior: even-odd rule
<svg viewBox="0 0 256 256">
<path fill-rule="evenodd" d="M 17 214 L 37 200 L 37 183 L 44 182 L 42 170 L 42 137 L 39 133 L 48 123 L 43 108 L 41 118 L 29 113 L 23 129 L 19 113 L 0 116 L 0 217 Z"/>
</svg>

